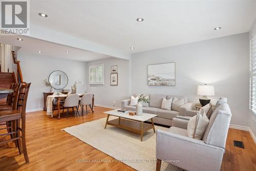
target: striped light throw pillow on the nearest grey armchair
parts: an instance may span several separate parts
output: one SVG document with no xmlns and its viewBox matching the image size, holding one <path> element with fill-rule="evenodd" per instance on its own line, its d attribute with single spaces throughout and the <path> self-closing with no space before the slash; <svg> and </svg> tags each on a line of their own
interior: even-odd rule
<svg viewBox="0 0 256 171">
<path fill-rule="evenodd" d="M 198 112 L 197 115 L 190 118 L 187 124 L 187 136 L 201 140 L 203 138 L 206 127 L 209 123 L 205 112 L 203 116 Z"/>
</svg>

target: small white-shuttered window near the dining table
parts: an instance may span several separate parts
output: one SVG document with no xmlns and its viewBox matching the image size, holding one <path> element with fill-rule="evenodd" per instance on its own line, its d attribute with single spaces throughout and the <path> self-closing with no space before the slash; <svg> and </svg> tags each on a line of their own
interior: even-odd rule
<svg viewBox="0 0 256 171">
<path fill-rule="evenodd" d="M 104 64 L 89 67 L 89 84 L 104 84 Z"/>
</svg>

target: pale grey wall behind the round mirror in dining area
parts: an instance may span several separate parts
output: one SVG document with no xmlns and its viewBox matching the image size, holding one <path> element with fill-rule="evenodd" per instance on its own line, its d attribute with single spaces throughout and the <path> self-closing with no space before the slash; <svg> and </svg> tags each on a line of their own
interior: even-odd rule
<svg viewBox="0 0 256 171">
<path fill-rule="evenodd" d="M 80 80 L 83 81 L 83 84 L 78 84 L 77 92 L 83 93 L 86 90 L 86 62 L 49 57 L 44 54 L 30 55 L 24 53 L 22 49 L 18 51 L 17 56 L 20 60 L 24 81 L 31 82 L 27 103 L 29 111 L 43 108 L 43 92 L 50 90 L 50 87 L 45 86 L 44 80 L 48 80 L 50 73 L 55 70 L 61 70 L 68 75 L 69 83 L 64 89 L 70 90 L 74 82 Z"/>
</svg>

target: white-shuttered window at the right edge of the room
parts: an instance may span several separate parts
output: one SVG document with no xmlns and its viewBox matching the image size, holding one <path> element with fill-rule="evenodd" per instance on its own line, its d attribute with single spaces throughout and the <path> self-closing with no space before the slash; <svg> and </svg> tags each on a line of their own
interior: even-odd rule
<svg viewBox="0 0 256 171">
<path fill-rule="evenodd" d="M 250 56 L 250 110 L 256 115 L 256 35 L 251 38 Z"/>
</svg>

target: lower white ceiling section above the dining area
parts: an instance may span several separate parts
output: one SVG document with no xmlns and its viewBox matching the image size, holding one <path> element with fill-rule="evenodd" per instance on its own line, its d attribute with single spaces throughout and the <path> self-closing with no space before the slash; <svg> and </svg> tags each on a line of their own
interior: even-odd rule
<svg viewBox="0 0 256 171">
<path fill-rule="evenodd" d="M 23 41 L 18 41 L 17 38 L 22 38 Z M 41 56 L 60 57 L 80 61 L 92 61 L 112 57 L 27 36 L 0 36 L 0 42 L 22 47 L 19 49 L 19 52 L 22 51 L 32 55 L 35 54 Z M 67 53 L 66 50 L 69 52 Z M 42 53 L 38 53 L 38 51 L 42 51 Z"/>
</svg>

